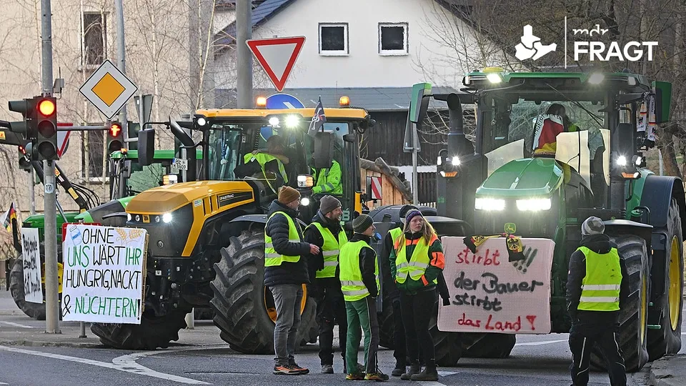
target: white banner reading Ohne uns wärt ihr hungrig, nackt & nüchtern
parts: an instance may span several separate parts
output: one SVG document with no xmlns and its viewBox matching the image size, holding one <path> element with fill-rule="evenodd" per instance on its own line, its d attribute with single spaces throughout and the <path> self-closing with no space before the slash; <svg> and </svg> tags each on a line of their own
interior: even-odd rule
<svg viewBox="0 0 686 386">
<path fill-rule="evenodd" d="M 62 320 L 141 323 L 145 229 L 71 224 L 62 243 Z"/>
</svg>

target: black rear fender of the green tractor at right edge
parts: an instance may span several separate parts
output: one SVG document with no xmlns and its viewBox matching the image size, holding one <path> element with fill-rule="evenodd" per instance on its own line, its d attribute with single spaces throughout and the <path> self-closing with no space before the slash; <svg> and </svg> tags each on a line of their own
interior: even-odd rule
<svg viewBox="0 0 686 386">
<path fill-rule="evenodd" d="M 652 225 L 652 259 L 650 276 L 652 283 L 663 283 L 667 277 L 667 261 L 665 252 L 670 242 L 667 234 L 667 216 L 672 199 L 677 200 L 681 216 L 682 233 L 686 230 L 686 201 L 684 185 L 678 177 L 656 176 L 651 174 L 645 179 L 641 195 L 641 205 L 650 209 L 650 224 Z M 627 208 L 630 210 L 632 208 Z M 651 249 L 648 249 L 649 251 Z M 653 285 L 650 300 L 660 297 L 665 291 L 664 286 Z"/>
</svg>

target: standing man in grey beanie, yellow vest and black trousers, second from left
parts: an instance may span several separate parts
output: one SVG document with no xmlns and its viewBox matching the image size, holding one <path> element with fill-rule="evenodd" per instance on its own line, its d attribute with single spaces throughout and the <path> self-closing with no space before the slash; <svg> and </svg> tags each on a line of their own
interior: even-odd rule
<svg viewBox="0 0 686 386">
<path fill-rule="evenodd" d="M 338 257 L 341 247 L 348 241 L 341 217 L 341 202 L 333 196 L 319 200 L 319 210 L 312 223 L 305 228 L 305 242 L 319 247 L 319 253 L 309 254 L 309 295 L 317 302 L 319 325 L 319 360 L 323 374 L 334 373 L 334 325 L 338 323 L 338 337 L 345 364 L 346 316 L 343 292 L 339 280 Z M 343 366 L 345 372 L 345 365 Z"/>
</svg>

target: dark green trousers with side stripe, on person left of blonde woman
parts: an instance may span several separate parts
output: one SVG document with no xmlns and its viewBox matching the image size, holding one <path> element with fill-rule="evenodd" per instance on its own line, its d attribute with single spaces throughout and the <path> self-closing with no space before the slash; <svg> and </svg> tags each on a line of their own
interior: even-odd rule
<svg viewBox="0 0 686 386">
<path fill-rule="evenodd" d="M 377 320 L 377 300 L 371 296 L 362 300 L 345 302 L 348 320 L 346 371 L 358 372 L 357 350 L 364 331 L 364 368 L 367 374 L 378 371 L 377 350 L 379 350 L 379 320 Z"/>
</svg>

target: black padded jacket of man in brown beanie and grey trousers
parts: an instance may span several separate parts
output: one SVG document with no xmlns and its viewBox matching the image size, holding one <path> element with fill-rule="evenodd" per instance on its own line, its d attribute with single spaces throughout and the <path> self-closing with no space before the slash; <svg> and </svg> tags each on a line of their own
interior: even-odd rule
<svg viewBox="0 0 686 386">
<path fill-rule="evenodd" d="M 269 206 L 269 213 L 267 218 L 271 217 L 274 212 L 284 212 L 291 217 L 295 224 L 298 223 L 296 218 L 297 212 L 290 209 L 278 200 L 274 200 Z M 309 244 L 307 242 L 289 242 L 288 237 L 288 220 L 284 215 L 277 214 L 267 222 L 267 227 L 264 229 L 267 236 L 272 237 L 272 244 L 274 249 L 280 254 L 287 256 L 301 256 L 297 262 L 282 262 L 281 265 L 275 267 L 264 267 L 264 285 L 269 287 L 279 284 L 303 284 L 309 283 L 309 275 L 307 274 L 307 255 L 309 254 Z M 299 238 L 302 240 L 302 232 L 298 230 Z"/>
</svg>

